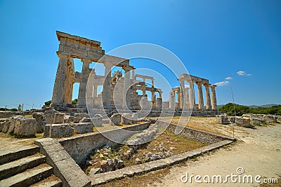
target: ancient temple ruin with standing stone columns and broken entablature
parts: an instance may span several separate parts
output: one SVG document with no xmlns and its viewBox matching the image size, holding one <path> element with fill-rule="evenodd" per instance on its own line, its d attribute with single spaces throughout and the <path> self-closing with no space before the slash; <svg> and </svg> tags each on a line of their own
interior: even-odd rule
<svg viewBox="0 0 281 187">
<path fill-rule="evenodd" d="M 58 111 L 69 111 L 69 109 L 116 109 L 117 107 L 128 107 L 139 110 L 142 102 L 150 106 L 150 109 L 161 111 L 162 109 L 192 109 L 216 111 L 216 85 L 211 85 L 209 80 L 188 74 L 181 74 L 178 78 L 180 86 L 172 88 L 169 101 L 162 101 L 162 90 L 155 88 L 155 78 L 135 74 L 134 67 L 129 60 L 122 57 L 105 55 L 105 50 L 99 41 L 85 39 L 64 32 L 56 32 L 60 41 L 57 55 L 59 57 L 58 69 L 55 76 L 53 97 L 51 106 Z M 74 69 L 74 58 L 83 63 L 81 72 Z M 105 66 L 105 74 L 97 75 L 95 69 L 90 68 L 92 62 L 101 63 Z M 124 70 L 116 71 L 112 75 L 112 67 L 121 67 Z M 137 78 L 143 79 L 138 81 Z M 146 80 L 151 85 L 146 84 Z M 185 84 L 188 83 L 188 84 Z M 78 103 L 72 104 L 73 84 L 79 83 Z M 194 83 L 198 88 L 198 104 L 195 104 Z M 98 86 L 103 90 L 98 95 Z M 186 87 L 188 85 L 188 87 Z M 205 104 L 202 93 L 202 85 L 205 87 Z M 211 88 L 211 97 L 209 88 Z M 138 94 L 141 90 L 142 95 Z M 151 92 L 151 101 L 145 92 Z M 159 97 L 155 93 L 159 93 Z M 176 101 L 177 97 L 177 101 Z"/>
</svg>

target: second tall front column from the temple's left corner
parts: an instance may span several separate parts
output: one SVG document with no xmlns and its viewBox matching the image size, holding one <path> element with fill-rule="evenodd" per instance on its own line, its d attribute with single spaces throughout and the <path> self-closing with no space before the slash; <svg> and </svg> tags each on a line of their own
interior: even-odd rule
<svg viewBox="0 0 281 187">
<path fill-rule="evenodd" d="M 83 62 L 82 71 L 81 71 L 81 81 L 79 85 L 79 94 L 78 94 L 78 104 L 81 106 L 86 105 L 86 86 L 87 81 L 89 78 L 89 66 L 91 64 L 91 60 L 89 59 L 82 59 L 81 62 Z M 93 88 L 91 88 L 93 90 Z M 92 91 L 93 92 L 93 91 Z M 89 94 L 91 94 L 90 92 Z"/>
</svg>

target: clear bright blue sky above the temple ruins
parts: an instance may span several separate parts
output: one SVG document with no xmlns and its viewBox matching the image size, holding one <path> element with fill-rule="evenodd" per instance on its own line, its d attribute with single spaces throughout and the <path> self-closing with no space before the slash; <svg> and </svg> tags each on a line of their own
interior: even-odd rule
<svg viewBox="0 0 281 187">
<path fill-rule="evenodd" d="M 278 0 L 0 1 L 0 107 L 51 99 L 56 30 L 100 41 L 105 52 L 136 42 L 163 46 L 190 74 L 221 85 L 218 104 L 231 102 L 230 86 L 239 104 L 281 104 L 280 9 Z"/>
</svg>

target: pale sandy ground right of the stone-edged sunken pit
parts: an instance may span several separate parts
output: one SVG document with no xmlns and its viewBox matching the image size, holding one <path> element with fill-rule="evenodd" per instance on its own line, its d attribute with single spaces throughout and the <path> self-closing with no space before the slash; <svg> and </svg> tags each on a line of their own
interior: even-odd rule
<svg viewBox="0 0 281 187">
<path fill-rule="evenodd" d="M 194 123 L 199 118 L 191 118 Z M 214 118 L 201 118 L 198 121 L 201 128 L 211 127 L 213 130 L 232 136 L 231 125 L 216 125 Z M 207 124 L 208 123 L 208 124 Z M 199 125 L 199 124 L 198 124 Z M 259 183 L 183 183 L 181 176 L 188 175 L 221 175 L 223 179 L 228 174 L 237 174 L 237 167 L 244 169 L 243 175 L 261 175 L 265 178 L 281 177 L 281 125 L 257 127 L 256 130 L 235 126 L 235 138 L 238 141 L 232 146 L 221 148 L 208 155 L 197 158 L 196 161 L 188 160 L 184 166 L 171 167 L 161 183 L 152 183 L 150 186 L 259 186 Z M 185 178 L 183 178 L 185 179 Z M 201 179 L 202 180 L 202 179 Z M 279 179 L 280 180 L 280 179 Z"/>
</svg>

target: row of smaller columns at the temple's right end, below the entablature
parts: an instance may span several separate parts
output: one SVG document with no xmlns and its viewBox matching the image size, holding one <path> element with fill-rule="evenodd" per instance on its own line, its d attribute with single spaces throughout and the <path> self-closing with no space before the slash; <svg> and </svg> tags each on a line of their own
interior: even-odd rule
<svg viewBox="0 0 281 187">
<path fill-rule="evenodd" d="M 189 106 L 195 106 L 195 92 L 194 92 L 194 84 L 193 82 L 188 82 L 190 84 L 190 88 L 185 88 L 184 81 L 180 80 L 181 87 L 180 87 L 180 107 L 181 109 L 184 108 L 185 105 Z M 200 83 L 200 82 L 195 82 L 198 87 L 198 106 L 199 109 L 204 109 L 204 98 L 203 98 L 203 91 L 202 91 L 202 85 L 205 87 L 205 99 L 206 99 L 206 109 L 217 109 L 217 104 L 216 104 L 216 85 L 210 85 Z M 211 98 L 210 98 L 210 92 L 209 92 L 209 87 L 211 87 Z M 183 88 L 185 89 L 183 91 Z M 188 92 L 188 89 L 190 92 Z M 190 93 L 190 94 L 189 94 Z M 190 107 L 188 107 L 190 108 Z"/>
</svg>

